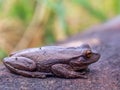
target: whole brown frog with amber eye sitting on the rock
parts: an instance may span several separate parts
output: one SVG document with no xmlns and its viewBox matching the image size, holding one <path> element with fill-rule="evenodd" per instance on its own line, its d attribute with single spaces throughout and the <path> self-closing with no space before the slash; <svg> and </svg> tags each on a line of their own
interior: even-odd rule
<svg viewBox="0 0 120 90">
<path fill-rule="evenodd" d="M 99 58 L 89 44 L 43 46 L 13 52 L 3 59 L 3 64 L 11 73 L 24 77 L 88 78 L 89 65 Z"/>
</svg>

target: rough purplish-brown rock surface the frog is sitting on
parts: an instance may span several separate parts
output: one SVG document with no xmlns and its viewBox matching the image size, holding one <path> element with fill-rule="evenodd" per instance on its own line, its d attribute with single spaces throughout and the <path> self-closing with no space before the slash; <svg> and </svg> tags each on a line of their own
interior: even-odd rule
<svg viewBox="0 0 120 90">
<path fill-rule="evenodd" d="M 116 22 L 114 22 L 116 23 Z M 0 90 L 120 90 L 120 27 L 108 23 L 71 37 L 65 43 L 84 41 L 101 53 L 92 64 L 88 79 L 26 78 L 0 66 Z"/>
</svg>

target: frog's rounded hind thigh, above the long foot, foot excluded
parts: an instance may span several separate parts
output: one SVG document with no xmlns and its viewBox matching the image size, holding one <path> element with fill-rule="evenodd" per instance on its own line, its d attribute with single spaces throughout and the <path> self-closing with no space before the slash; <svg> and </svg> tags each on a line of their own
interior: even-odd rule
<svg viewBox="0 0 120 90">
<path fill-rule="evenodd" d="M 25 57 L 7 57 L 4 58 L 3 63 L 8 69 L 10 69 L 9 66 L 26 71 L 33 71 L 36 68 L 36 63 L 33 60 Z"/>
</svg>

